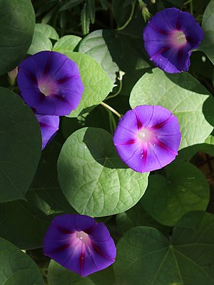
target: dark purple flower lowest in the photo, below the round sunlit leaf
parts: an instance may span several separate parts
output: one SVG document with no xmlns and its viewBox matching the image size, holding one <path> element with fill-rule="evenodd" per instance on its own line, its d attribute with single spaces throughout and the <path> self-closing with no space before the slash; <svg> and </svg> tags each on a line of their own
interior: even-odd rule
<svg viewBox="0 0 214 285">
<path fill-rule="evenodd" d="M 46 256 L 81 276 L 105 269 L 116 258 L 116 247 L 106 226 L 81 214 L 55 217 L 43 246 Z"/>
</svg>

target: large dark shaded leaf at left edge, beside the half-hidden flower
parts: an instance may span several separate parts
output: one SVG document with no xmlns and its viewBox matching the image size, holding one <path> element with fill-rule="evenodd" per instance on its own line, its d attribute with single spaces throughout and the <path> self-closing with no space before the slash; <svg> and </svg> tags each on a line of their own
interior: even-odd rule
<svg viewBox="0 0 214 285">
<path fill-rule="evenodd" d="M 0 202 L 24 199 L 41 155 L 39 123 L 31 108 L 0 88 Z"/>
</svg>

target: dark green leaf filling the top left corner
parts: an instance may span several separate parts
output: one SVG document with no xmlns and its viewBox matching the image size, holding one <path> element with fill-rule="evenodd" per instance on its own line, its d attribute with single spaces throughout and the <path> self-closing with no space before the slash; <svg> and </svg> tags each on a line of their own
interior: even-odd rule
<svg viewBox="0 0 214 285">
<path fill-rule="evenodd" d="M 30 0 L 0 0 L 0 74 L 14 69 L 31 45 L 35 14 Z"/>
</svg>

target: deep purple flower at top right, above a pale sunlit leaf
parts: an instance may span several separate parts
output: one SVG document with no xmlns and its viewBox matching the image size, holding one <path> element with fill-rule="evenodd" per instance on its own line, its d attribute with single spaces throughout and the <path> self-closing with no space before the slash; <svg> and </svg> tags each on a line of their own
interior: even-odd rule
<svg viewBox="0 0 214 285">
<path fill-rule="evenodd" d="M 151 61 L 168 73 L 188 71 L 192 50 L 202 39 L 202 28 L 194 17 L 176 8 L 158 12 L 143 31 Z"/>
</svg>

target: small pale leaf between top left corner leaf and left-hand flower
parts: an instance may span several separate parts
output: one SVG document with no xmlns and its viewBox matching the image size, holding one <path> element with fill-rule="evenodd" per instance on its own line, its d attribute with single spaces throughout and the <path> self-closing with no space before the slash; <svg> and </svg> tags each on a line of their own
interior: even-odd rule
<svg viewBox="0 0 214 285">
<path fill-rule="evenodd" d="M 35 53 L 39 53 L 39 51 L 51 51 L 52 47 L 51 40 L 44 35 L 44 33 L 35 30 L 33 41 L 28 53 L 33 55 Z"/>
</svg>

